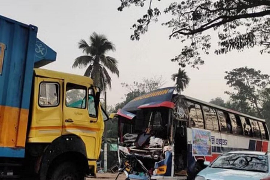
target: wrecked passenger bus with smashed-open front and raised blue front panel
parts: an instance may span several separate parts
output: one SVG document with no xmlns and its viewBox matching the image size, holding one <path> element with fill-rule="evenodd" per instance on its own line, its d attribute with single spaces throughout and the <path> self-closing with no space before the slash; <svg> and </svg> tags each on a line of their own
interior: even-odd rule
<svg viewBox="0 0 270 180">
<path fill-rule="evenodd" d="M 264 119 L 157 89 L 117 112 L 118 156 L 127 179 L 193 179 L 221 153 L 267 152 Z"/>
</svg>

